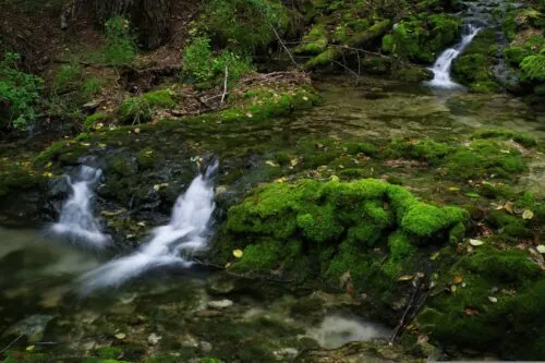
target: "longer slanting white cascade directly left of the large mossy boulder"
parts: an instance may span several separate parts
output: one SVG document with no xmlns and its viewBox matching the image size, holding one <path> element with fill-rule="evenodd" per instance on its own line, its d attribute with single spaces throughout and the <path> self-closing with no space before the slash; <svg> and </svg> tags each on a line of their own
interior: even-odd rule
<svg viewBox="0 0 545 363">
<path fill-rule="evenodd" d="M 191 255 L 206 247 L 208 226 L 215 209 L 211 177 L 218 164 L 196 177 L 174 204 L 170 222 L 154 230 L 149 242 L 134 253 L 113 259 L 85 274 L 83 292 L 119 287 L 145 271 L 162 266 L 190 267 Z"/>
</svg>

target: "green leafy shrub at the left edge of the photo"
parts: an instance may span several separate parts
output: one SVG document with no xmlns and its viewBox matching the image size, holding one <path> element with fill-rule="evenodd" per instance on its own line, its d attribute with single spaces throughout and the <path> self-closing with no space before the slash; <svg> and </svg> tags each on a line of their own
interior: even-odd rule
<svg viewBox="0 0 545 363">
<path fill-rule="evenodd" d="M 11 52 L 0 61 L 0 128 L 22 131 L 38 117 L 44 80 L 22 72 L 20 61 Z"/>
</svg>

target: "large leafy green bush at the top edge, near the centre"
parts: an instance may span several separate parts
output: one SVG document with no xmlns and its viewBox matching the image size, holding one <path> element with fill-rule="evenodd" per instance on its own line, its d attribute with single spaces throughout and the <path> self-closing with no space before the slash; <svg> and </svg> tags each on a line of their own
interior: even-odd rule
<svg viewBox="0 0 545 363">
<path fill-rule="evenodd" d="M 289 24 L 280 0 L 211 0 L 205 9 L 205 27 L 213 37 L 241 53 L 251 53 L 275 39 Z"/>
</svg>

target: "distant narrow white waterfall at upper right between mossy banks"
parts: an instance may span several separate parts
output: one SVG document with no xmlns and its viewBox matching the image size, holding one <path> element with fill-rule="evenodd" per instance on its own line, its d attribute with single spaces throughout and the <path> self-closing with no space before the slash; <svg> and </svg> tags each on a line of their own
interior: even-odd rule
<svg viewBox="0 0 545 363">
<path fill-rule="evenodd" d="M 471 41 L 473 41 L 473 38 L 479 34 L 481 31 L 480 27 L 474 26 L 472 24 L 467 24 L 463 26 L 463 32 L 462 32 L 462 40 L 456 45 L 453 48 L 449 48 L 445 50 L 439 58 L 435 61 L 434 65 L 432 66 L 432 71 L 434 72 L 434 78 L 426 84 L 436 87 L 436 88 L 444 88 L 444 89 L 453 89 L 453 88 L 460 88 L 461 86 L 453 82 L 450 78 L 450 70 L 452 68 L 452 61 L 460 56 L 460 53 L 468 47 Z"/>
</svg>

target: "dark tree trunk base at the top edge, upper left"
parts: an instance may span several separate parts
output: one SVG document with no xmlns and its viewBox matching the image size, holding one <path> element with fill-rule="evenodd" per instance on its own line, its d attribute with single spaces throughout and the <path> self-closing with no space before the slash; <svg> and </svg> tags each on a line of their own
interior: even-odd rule
<svg viewBox="0 0 545 363">
<path fill-rule="evenodd" d="M 171 0 L 78 0 L 77 3 L 100 24 L 114 15 L 128 16 L 145 48 L 159 47 L 169 35 Z"/>
</svg>

